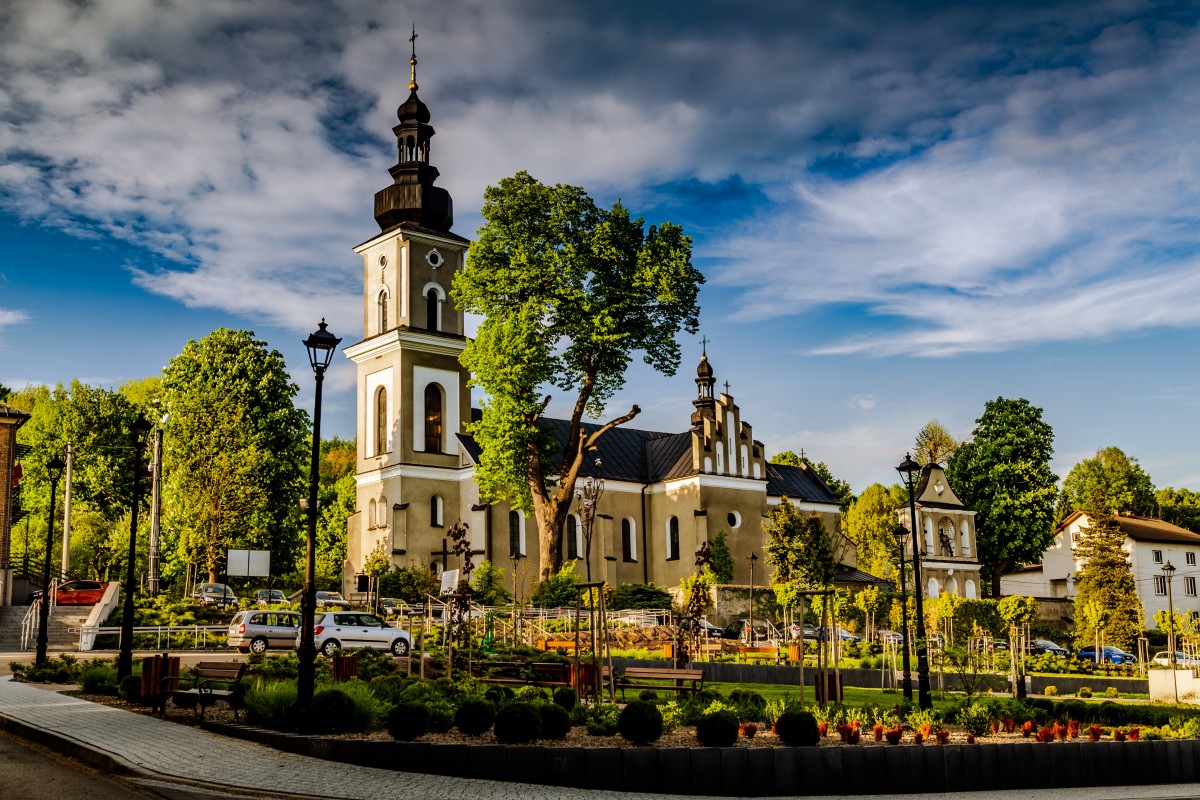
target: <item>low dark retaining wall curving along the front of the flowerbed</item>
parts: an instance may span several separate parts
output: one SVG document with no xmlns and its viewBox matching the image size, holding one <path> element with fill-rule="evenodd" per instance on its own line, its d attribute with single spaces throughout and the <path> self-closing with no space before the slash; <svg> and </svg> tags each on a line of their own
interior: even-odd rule
<svg viewBox="0 0 1200 800">
<path fill-rule="evenodd" d="M 731 798 L 1193 783 L 1200 739 L 833 747 L 545 747 L 202 728 L 301 756 L 406 772 Z"/>
</svg>

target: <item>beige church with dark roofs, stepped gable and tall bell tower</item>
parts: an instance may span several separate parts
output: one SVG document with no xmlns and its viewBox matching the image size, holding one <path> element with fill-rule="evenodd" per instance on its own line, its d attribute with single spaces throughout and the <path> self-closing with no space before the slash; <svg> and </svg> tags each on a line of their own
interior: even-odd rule
<svg viewBox="0 0 1200 800">
<path fill-rule="evenodd" d="M 450 299 L 469 241 L 451 233 L 454 206 L 434 186 L 430 109 L 416 95 L 416 56 L 410 60 L 408 100 L 397 109 L 398 161 L 392 184 L 376 193 L 379 234 L 359 245 L 362 257 L 362 341 L 346 348 L 358 367 L 358 510 L 347 530 L 344 590 L 380 545 L 398 566 L 456 569 L 446 531 L 469 525 L 473 549 L 503 567 L 509 585 L 528 599 L 539 575 L 533 515 L 480 501 L 473 479 L 480 453 L 468 433 L 468 373 L 458 362 L 467 347 L 463 313 Z M 605 481 L 593 528 L 590 565 L 583 564 L 582 521 L 572 510 L 563 558 L 577 572 L 610 585 L 652 582 L 678 585 L 695 571 L 701 542 L 726 531 L 734 583 L 749 583 L 752 554 L 763 559 L 764 515 L 782 497 L 821 515 L 835 530 L 838 499 L 806 467 L 769 464 L 763 444 L 716 377 L 707 355 L 696 369 L 695 411 L 677 432 L 618 427 L 598 444 L 601 464 L 588 475 Z M 566 426 L 565 421 L 550 421 Z M 854 570 L 848 541 L 840 560 Z M 763 560 L 756 583 L 766 584 Z M 514 581 L 515 573 L 515 581 Z"/>
</svg>

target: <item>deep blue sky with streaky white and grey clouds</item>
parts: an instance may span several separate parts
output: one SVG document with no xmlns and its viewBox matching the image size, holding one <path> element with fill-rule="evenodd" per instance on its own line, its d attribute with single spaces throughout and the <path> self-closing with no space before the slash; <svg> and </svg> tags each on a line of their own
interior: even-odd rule
<svg viewBox="0 0 1200 800">
<path fill-rule="evenodd" d="M 929 419 L 1026 397 L 1060 475 L 1116 445 L 1200 488 L 1193 4 L 10 0 L 0 383 L 119 384 L 235 326 L 310 404 L 304 336 L 361 338 L 414 22 L 455 230 L 518 169 L 683 224 L 769 452 L 859 491 Z M 611 410 L 684 429 L 697 355 Z"/>
</svg>

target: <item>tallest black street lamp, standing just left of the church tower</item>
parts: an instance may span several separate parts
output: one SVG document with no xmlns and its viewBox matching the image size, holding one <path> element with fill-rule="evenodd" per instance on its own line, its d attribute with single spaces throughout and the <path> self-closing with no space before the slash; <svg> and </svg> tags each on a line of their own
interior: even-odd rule
<svg viewBox="0 0 1200 800">
<path fill-rule="evenodd" d="M 317 377 L 317 398 L 312 411 L 312 458 L 308 464 L 308 548 L 304 565 L 304 593 L 300 596 L 300 666 L 296 670 L 296 706 L 307 714 L 316 688 L 317 648 L 313 644 L 313 625 L 317 613 L 317 476 L 320 469 L 320 385 L 325 371 L 334 360 L 334 350 L 342 341 L 325 330 L 320 320 L 317 331 L 308 335 L 304 345 L 308 349 L 308 363 Z"/>
</svg>

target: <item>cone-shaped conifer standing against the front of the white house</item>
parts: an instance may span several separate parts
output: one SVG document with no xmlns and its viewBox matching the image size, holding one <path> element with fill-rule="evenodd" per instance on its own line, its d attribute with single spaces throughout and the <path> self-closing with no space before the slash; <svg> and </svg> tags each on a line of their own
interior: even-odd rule
<svg viewBox="0 0 1200 800">
<path fill-rule="evenodd" d="M 1126 535 L 1099 494 L 1084 507 L 1087 528 L 1075 542 L 1075 643 L 1092 644 L 1102 631 L 1108 644 L 1128 648 L 1142 631 L 1141 600 L 1134 583 Z"/>
</svg>

